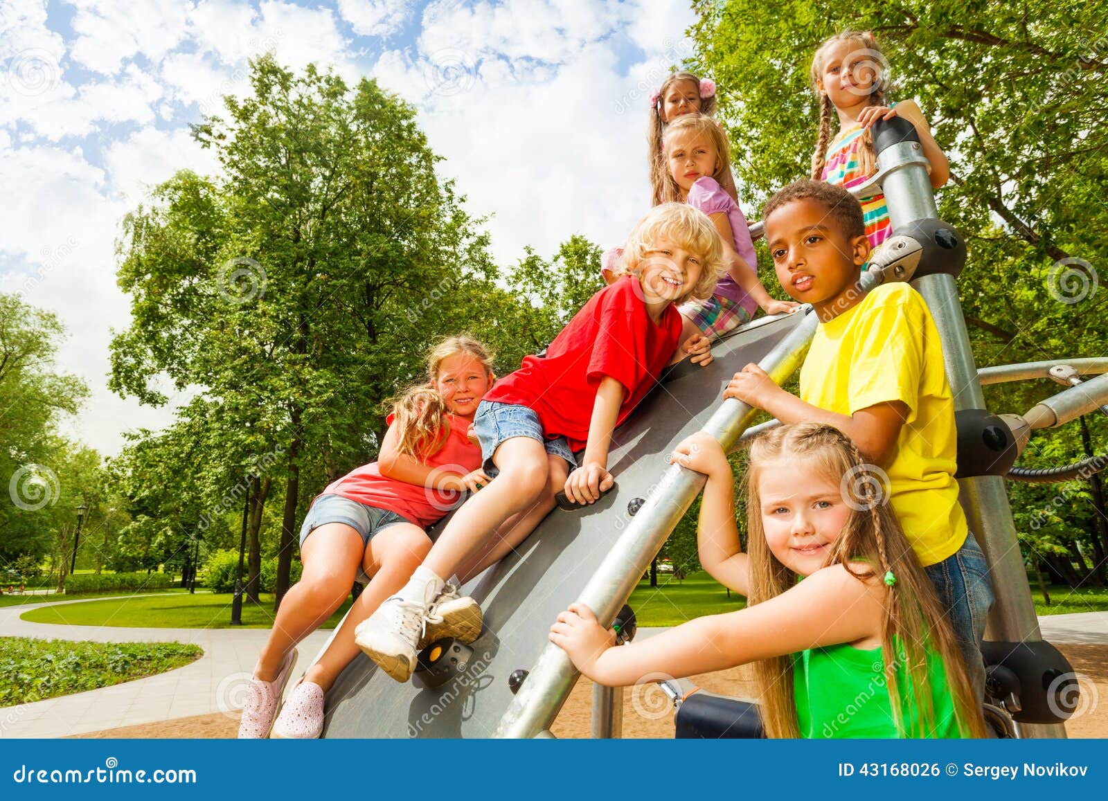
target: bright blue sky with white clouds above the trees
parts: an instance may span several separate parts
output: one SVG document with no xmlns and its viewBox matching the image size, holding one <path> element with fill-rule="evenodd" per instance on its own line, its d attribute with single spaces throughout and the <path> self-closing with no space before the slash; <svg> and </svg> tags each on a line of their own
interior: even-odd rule
<svg viewBox="0 0 1108 801">
<path fill-rule="evenodd" d="M 216 172 L 188 125 L 248 91 L 252 57 L 376 78 L 412 103 L 440 175 L 512 265 L 573 234 L 622 242 L 647 209 L 648 97 L 693 53 L 694 19 L 688 0 L 0 0 L 0 291 L 66 327 L 58 368 L 91 394 L 65 433 L 110 456 L 124 432 L 172 422 L 172 400 L 107 389 L 130 325 L 115 243 L 151 187 Z"/>
</svg>

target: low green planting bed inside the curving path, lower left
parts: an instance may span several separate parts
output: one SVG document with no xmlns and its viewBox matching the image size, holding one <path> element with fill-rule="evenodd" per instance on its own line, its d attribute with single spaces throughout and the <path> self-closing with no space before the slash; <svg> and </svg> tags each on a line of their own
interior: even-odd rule
<svg viewBox="0 0 1108 801">
<path fill-rule="evenodd" d="M 181 643 L 71 643 L 0 637 L 0 707 L 155 676 L 204 655 Z"/>
</svg>

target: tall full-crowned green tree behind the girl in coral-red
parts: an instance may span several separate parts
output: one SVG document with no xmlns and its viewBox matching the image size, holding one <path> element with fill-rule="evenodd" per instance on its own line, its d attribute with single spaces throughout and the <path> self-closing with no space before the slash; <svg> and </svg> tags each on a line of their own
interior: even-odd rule
<svg viewBox="0 0 1108 801">
<path fill-rule="evenodd" d="M 270 57 L 252 85 L 195 130 L 223 174 L 178 174 L 125 222 L 133 322 L 113 341 L 112 386 L 153 403 L 162 373 L 201 388 L 224 437 L 197 463 L 215 472 L 244 475 L 252 454 L 279 450 L 279 603 L 301 472 L 314 495 L 369 461 L 381 402 L 419 378 L 429 341 L 495 328 L 509 307 L 465 302 L 495 269 L 414 110 L 373 81 L 351 90 Z"/>
</svg>

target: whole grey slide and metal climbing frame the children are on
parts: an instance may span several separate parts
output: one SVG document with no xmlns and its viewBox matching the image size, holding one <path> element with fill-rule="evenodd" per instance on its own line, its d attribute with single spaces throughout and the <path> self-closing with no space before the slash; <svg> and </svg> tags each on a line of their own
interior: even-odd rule
<svg viewBox="0 0 1108 801">
<path fill-rule="evenodd" d="M 1044 643 L 1024 572 L 1004 475 L 1032 481 L 1084 477 L 1108 458 L 1047 471 L 1013 468 L 1032 432 L 1054 428 L 1108 402 L 1108 358 L 1034 362 L 976 369 L 958 304 L 955 278 L 965 263 L 961 235 L 937 218 L 927 162 L 912 125 L 874 126 L 878 173 L 854 189 L 881 191 L 893 236 L 874 255 L 859 291 L 886 280 L 909 280 L 926 300 L 942 339 L 958 422 L 962 503 L 991 567 L 996 605 L 984 648 L 988 668 L 987 719 L 999 736 L 1065 737 L 1063 721 L 1076 708 L 1076 684 L 1065 658 Z M 438 644 L 417 678 L 399 685 L 359 657 L 328 696 L 327 737 L 546 737 L 578 678 L 565 653 L 546 634 L 557 613 L 581 600 L 602 623 L 616 620 L 639 576 L 700 492 L 704 476 L 666 455 L 702 430 L 726 450 L 748 431 L 756 410 L 720 397 L 733 372 L 758 362 L 783 383 L 800 367 L 817 326 L 810 309 L 765 318 L 714 347 L 706 369 L 679 364 L 643 402 L 613 441 L 611 464 L 619 485 L 595 505 L 553 512 L 512 555 L 463 592 L 485 610 L 485 628 L 451 668 Z M 1081 376 L 1098 376 L 1081 381 Z M 983 383 L 1053 377 L 1068 389 L 1023 415 L 985 410 Z M 432 650 L 432 644 L 429 650 Z M 427 651 L 424 651 L 427 654 Z M 463 657 L 463 658 L 459 658 Z M 449 668 L 449 669 L 448 669 Z M 438 671 L 437 671 L 438 670 Z M 675 682 L 663 689 L 678 707 L 679 737 L 758 736 L 756 710 L 746 702 L 696 692 L 688 700 Z M 618 737 L 620 691 L 595 686 L 593 735 Z"/>
</svg>

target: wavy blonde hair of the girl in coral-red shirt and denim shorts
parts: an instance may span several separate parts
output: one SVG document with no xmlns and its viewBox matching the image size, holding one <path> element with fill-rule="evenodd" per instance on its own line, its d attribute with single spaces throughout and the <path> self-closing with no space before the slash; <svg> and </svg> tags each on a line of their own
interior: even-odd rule
<svg viewBox="0 0 1108 801">
<path fill-rule="evenodd" d="M 410 387 L 391 401 L 399 453 L 425 462 L 445 444 L 450 435 L 449 411 L 433 384 L 442 362 L 459 355 L 472 356 L 492 376 L 492 352 L 472 337 L 447 337 L 432 347 L 427 356 L 428 383 Z"/>
</svg>

